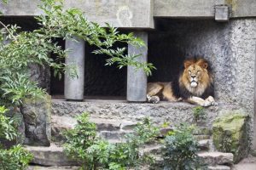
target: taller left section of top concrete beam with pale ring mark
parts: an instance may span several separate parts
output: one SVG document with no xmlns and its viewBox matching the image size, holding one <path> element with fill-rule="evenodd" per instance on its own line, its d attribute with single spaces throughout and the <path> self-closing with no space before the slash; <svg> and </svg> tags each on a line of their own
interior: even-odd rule
<svg viewBox="0 0 256 170">
<path fill-rule="evenodd" d="M 42 11 L 37 8 L 39 0 L 9 0 L 7 5 L 0 3 L 3 14 L 38 15 Z M 81 8 L 90 21 L 105 26 L 105 23 L 116 27 L 153 28 L 153 0 L 66 0 L 64 5 L 68 8 Z"/>
</svg>

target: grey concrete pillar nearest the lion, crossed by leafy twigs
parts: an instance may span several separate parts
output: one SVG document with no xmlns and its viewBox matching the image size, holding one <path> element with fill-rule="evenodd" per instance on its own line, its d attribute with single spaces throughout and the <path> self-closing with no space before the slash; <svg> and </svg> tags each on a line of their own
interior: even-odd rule
<svg viewBox="0 0 256 170">
<path fill-rule="evenodd" d="M 135 32 L 136 37 L 140 37 L 148 46 L 148 33 L 143 31 Z M 148 48 L 136 48 L 128 45 L 129 54 L 141 54 L 137 57 L 139 62 L 148 61 Z M 133 102 L 144 102 L 147 100 L 147 75 L 143 69 L 137 70 L 133 66 L 128 66 L 127 70 L 127 100 Z"/>
</svg>

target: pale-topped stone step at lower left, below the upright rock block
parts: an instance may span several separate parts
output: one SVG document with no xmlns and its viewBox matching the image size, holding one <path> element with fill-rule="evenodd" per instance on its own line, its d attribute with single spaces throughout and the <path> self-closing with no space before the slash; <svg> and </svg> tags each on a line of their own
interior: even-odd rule
<svg viewBox="0 0 256 170">
<path fill-rule="evenodd" d="M 49 147 L 44 146 L 26 146 L 26 150 L 33 155 L 32 164 L 43 166 L 75 166 L 75 161 L 71 161 L 65 156 L 63 148 L 50 144 Z"/>
</svg>

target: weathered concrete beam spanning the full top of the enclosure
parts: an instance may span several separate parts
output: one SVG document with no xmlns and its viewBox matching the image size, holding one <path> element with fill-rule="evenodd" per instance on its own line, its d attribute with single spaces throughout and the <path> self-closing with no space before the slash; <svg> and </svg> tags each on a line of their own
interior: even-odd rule
<svg viewBox="0 0 256 170">
<path fill-rule="evenodd" d="M 7 16 L 38 15 L 39 0 L 9 0 L 0 3 Z M 154 17 L 214 18 L 216 4 L 230 7 L 230 17 L 255 17 L 255 0 L 65 0 L 65 6 L 81 8 L 86 17 L 101 25 L 116 27 L 154 28 Z"/>
</svg>

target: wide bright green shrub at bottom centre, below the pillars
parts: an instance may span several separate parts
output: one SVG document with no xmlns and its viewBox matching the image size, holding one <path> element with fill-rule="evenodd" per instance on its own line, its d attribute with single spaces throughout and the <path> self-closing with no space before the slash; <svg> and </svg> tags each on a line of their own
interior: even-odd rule
<svg viewBox="0 0 256 170">
<path fill-rule="evenodd" d="M 82 169 L 112 169 L 122 170 L 129 167 L 139 168 L 153 162 L 147 153 L 140 155 L 139 148 L 153 140 L 159 133 L 157 127 L 145 119 L 134 128 L 134 133 L 125 135 L 119 144 L 110 144 L 96 135 L 96 124 L 89 122 L 88 113 L 78 117 L 78 124 L 67 130 L 64 144 L 67 156 L 70 156 L 82 166 Z"/>
</svg>

